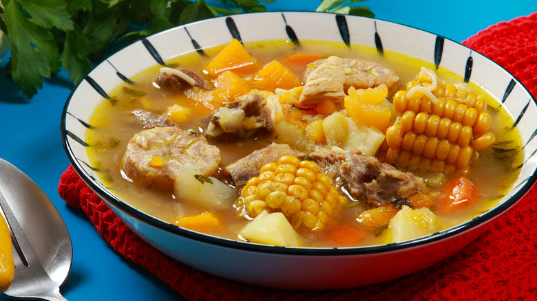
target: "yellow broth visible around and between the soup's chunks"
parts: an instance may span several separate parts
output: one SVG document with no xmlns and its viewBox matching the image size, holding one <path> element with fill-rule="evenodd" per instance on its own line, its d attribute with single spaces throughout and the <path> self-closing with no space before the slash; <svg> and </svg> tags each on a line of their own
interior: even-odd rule
<svg viewBox="0 0 537 301">
<path fill-rule="evenodd" d="M 319 41 L 301 41 L 301 45 L 298 51 L 294 45 L 286 41 L 248 43 L 245 46 L 249 54 L 258 60 L 261 66 L 271 60 L 281 60 L 297 52 L 319 54 L 323 57 L 339 56 L 341 58 L 374 60 L 394 70 L 399 75 L 403 85 L 412 80 L 419 73 L 422 66 L 434 69 L 434 65 L 431 63 L 394 52 L 385 52 L 381 56 L 375 49 L 368 47 L 356 45 L 346 47 L 343 43 L 324 43 Z M 218 54 L 222 47 L 205 50 L 209 54 L 207 58 L 203 58 L 197 53 L 187 54 L 174 58 L 167 62 L 167 65 L 180 66 L 202 74 L 201 70 L 215 54 Z M 101 170 L 99 173 L 101 180 L 106 186 L 111 187 L 112 192 L 125 203 L 169 223 L 174 223 L 180 216 L 192 216 L 207 210 L 217 211 L 224 227 L 222 227 L 222 230 L 207 231 L 207 233 L 224 238 L 240 239 L 238 230 L 248 220 L 238 216 L 238 212 L 232 205 L 223 210 L 211 210 L 211 208 L 177 200 L 171 192 L 151 190 L 132 183 L 125 177 L 120 168 L 120 160 L 125 153 L 129 140 L 134 134 L 142 131 L 141 126 L 129 124 L 129 111 L 145 109 L 156 113 L 165 113 L 167 107 L 173 104 L 189 106 L 193 102 L 186 96 L 171 95 L 171 93 L 156 89 L 153 86 L 153 82 L 159 74 L 159 68 L 160 66 L 155 66 L 132 78 L 136 85 L 120 85 L 110 94 L 112 101 L 103 99 L 98 106 L 91 120 L 89 120 L 89 124 L 92 124 L 94 129 L 87 130 L 87 142 L 90 145 L 87 151 L 91 164 Z M 460 76 L 454 75 L 449 70 L 439 68 L 436 73 L 445 82 L 462 82 Z M 492 115 L 489 132 L 496 135 L 496 142 L 512 140 L 514 141 L 514 146 L 520 149 L 518 132 L 516 130 L 505 131 L 513 123 L 512 118 L 483 89 L 472 82 L 470 82 L 470 86 L 473 91 L 482 94 L 487 99 L 487 112 Z M 144 95 L 140 96 L 139 93 L 133 93 L 133 91 L 143 91 Z M 496 110 L 495 108 L 500 109 Z M 197 130 L 201 118 L 202 116 L 195 116 L 190 122 L 180 124 L 179 127 L 185 130 Z M 255 149 L 263 148 L 270 142 L 268 140 L 244 140 L 220 144 L 218 147 L 222 155 L 222 165 L 240 159 Z M 467 178 L 478 187 L 480 200 L 477 205 L 467 210 L 462 210 L 458 214 L 439 215 L 443 228 L 468 221 L 492 208 L 501 199 L 501 196 L 509 190 L 518 176 L 519 170 L 512 167 L 520 165 L 521 154 L 516 155 L 511 162 L 496 159 L 493 156 L 492 148 L 479 151 L 479 155 L 481 159 L 476 166 L 472 166 L 472 171 L 467 175 Z M 357 214 L 368 208 L 368 205 L 364 203 L 348 206 L 342 210 L 337 219 L 339 219 L 340 224 L 355 224 Z M 341 247 L 341 245 L 336 245 L 324 238 L 324 232 L 321 234 L 311 234 L 304 230 L 299 232 L 302 234 L 302 245 L 304 247 Z M 389 232 L 383 232 L 383 234 L 375 236 L 374 232 L 370 231 L 370 235 L 362 239 L 359 245 L 377 245 L 390 242 Z"/>
</svg>

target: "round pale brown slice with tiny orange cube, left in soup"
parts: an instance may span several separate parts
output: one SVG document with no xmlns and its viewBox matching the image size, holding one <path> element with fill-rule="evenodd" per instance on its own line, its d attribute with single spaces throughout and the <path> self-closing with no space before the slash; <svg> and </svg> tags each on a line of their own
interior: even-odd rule
<svg viewBox="0 0 537 301">
<path fill-rule="evenodd" d="M 162 166 L 151 166 L 154 157 Z M 129 179 L 151 188 L 172 189 L 174 175 L 183 164 L 196 166 L 203 175 L 213 175 L 220 165 L 220 150 L 202 135 L 192 135 L 175 126 L 141 131 L 127 145 L 121 168 Z"/>
</svg>

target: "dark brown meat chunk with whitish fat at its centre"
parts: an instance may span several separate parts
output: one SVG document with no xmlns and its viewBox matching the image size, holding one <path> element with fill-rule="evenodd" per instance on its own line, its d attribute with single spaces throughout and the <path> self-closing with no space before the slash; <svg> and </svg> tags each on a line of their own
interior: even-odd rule
<svg viewBox="0 0 537 301">
<path fill-rule="evenodd" d="M 276 134 L 271 109 L 266 106 L 264 96 L 257 93 L 216 109 L 202 119 L 201 128 L 208 137 L 219 141 Z"/>
</svg>

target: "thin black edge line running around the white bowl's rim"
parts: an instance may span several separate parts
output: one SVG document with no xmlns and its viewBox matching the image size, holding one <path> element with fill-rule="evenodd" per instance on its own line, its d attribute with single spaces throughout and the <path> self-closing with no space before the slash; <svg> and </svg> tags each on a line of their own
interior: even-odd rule
<svg viewBox="0 0 537 301">
<path fill-rule="evenodd" d="M 253 15 L 253 14 L 332 14 L 337 15 L 333 13 L 328 12 L 309 12 L 309 11 L 285 11 L 285 10 L 279 10 L 279 11 L 270 11 L 270 12 L 249 12 L 249 13 L 243 13 L 240 14 L 240 16 L 244 15 Z M 529 90 L 515 77 L 513 76 L 509 71 L 507 71 L 504 67 L 499 65 L 498 63 L 494 62 L 493 60 L 487 58 L 480 52 L 471 49 L 470 47 L 467 47 L 459 42 L 456 42 L 450 38 L 446 38 L 445 36 L 441 36 L 440 34 L 435 34 L 433 32 L 430 32 L 428 30 L 422 30 L 420 28 L 411 26 L 411 25 L 404 25 L 401 23 L 397 23 L 394 21 L 386 21 L 379 18 L 367 18 L 362 16 L 352 16 L 352 15 L 344 15 L 346 18 L 360 18 L 360 19 L 370 19 L 375 21 L 382 21 L 386 23 L 391 23 L 393 25 L 398 25 L 401 27 L 407 27 L 410 29 L 418 30 L 419 32 L 425 32 L 429 34 L 433 34 L 435 36 L 439 36 L 441 38 L 444 38 L 445 40 L 451 41 L 452 43 L 456 43 L 459 47 L 465 47 L 472 52 L 478 53 L 480 56 L 483 56 L 485 60 L 488 60 L 489 63 L 492 63 L 496 65 L 499 69 L 502 69 L 506 74 L 511 76 L 512 80 L 516 82 L 516 84 L 520 85 L 520 87 L 530 96 L 530 102 L 537 103 L 534 96 L 529 93 Z M 218 19 L 225 19 L 229 16 L 218 16 L 211 19 L 205 19 L 201 21 L 196 21 L 192 23 L 187 23 L 184 25 L 178 25 L 176 27 L 172 27 L 168 30 L 163 30 L 162 32 L 158 32 L 155 34 L 151 34 L 151 36 L 155 36 L 157 34 L 162 34 L 164 32 L 169 32 L 172 30 L 177 30 L 178 28 L 182 27 L 189 27 L 194 24 L 198 23 L 210 23 L 215 22 L 215 20 Z M 147 36 L 146 38 L 149 38 L 151 36 Z M 129 45 L 122 47 L 118 51 L 114 52 L 114 54 L 120 52 L 121 50 L 130 47 L 134 43 L 137 43 L 140 40 L 134 41 L 133 43 L 130 43 Z M 110 56 L 113 56 L 114 54 L 111 54 Z M 94 69 L 99 67 L 101 64 L 105 63 L 107 58 L 103 59 L 101 63 L 98 63 L 92 67 L 92 69 L 88 72 L 91 73 Z M 70 95 L 67 97 L 67 100 L 65 102 L 65 105 L 63 107 L 63 111 L 61 114 L 61 138 L 63 143 L 63 148 L 65 150 L 65 153 L 67 154 L 68 159 L 71 162 L 72 167 L 76 171 L 79 177 L 86 183 L 86 185 L 92 189 L 98 197 L 100 197 L 109 207 L 116 208 L 117 210 L 120 210 L 123 214 L 127 214 L 133 219 L 136 219 L 138 221 L 141 221 L 147 225 L 154 226 L 158 228 L 159 230 L 164 230 L 165 232 L 169 232 L 171 234 L 175 234 L 178 236 L 182 236 L 183 238 L 188 238 L 194 241 L 198 241 L 200 243 L 207 243 L 209 245 L 218 245 L 220 247 L 227 247 L 231 249 L 238 249 L 242 251 L 251 251 L 251 252 L 261 252 L 261 253 L 269 253 L 269 254 L 283 254 L 283 255 L 300 255 L 300 256 L 350 256 L 350 255 L 361 255 L 361 254 L 381 254 L 385 252 L 396 252 L 401 249 L 407 249 L 410 247 L 420 247 L 429 243 L 435 243 L 437 241 L 442 241 L 445 239 L 448 239 L 452 236 L 456 236 L 459 234 L 462 234 L 463 232 L 467 232 L 470 230 L 476 230 L 478 225 L 485 225 L 486 223 L 489 223 L 490 221 L 493 221 L 496 219 L 496 217 L 500 216 L 501 214 L 505 213 L 509 208 L 511 208 L 515 203 L 520 201 L 525 194 L 529 192 L 532 186 L 534 186 L 534 183 L 537 181 L 537 168 L 533 170 L 533 173 L 527 177 L 527 179 L 523 182 L 522 187 L 518 188 L 518 191 L 516 191 L 511 197 L 508 199 L 505 199 L 505 201 L 502 201 L 501 204 L 495 205 L 494 208 L 487 210 L 487 212 L 484 212 L 483 214 L 480 214 L 474 219 L 471 219 L 470 221 L 465 221 L 464 223 L 461 223 L 459 225 L 456 225 L 454 227 L 450 227 L 446 230 L 441 230 L 439 232 L 435 232 L 433 234 L 429 234 L 427 236 L 422 236 L 419 238 L 414 238 L 409 241 L 403 241 L 400 243 L 389 243 L 385 245 L 368 245 L 368 246 L 362 246 L 362 247 L 282 247 L 282 246 L 274 246 L 274 245 L 262 245 L 259 243 L 249 243 L 244 241 L 237 241 L 232 240 L 229 238 L 222 238 L 218 236 L 213 236 L 210 234 L 204 234 L 201 232 L 196 232 L 194 230 L 188 230 L 186 228 L 178 227 L 176 225 L 172 225 L 171 223 L 167 223 L 165 221 L 162 221 L 160 219 L 155 218 L 154 216 L 151 216 L 143 211 L 140 211 L 133 206 L 125 203 L 124 201 L 121 201 L 118 197 L 116 197 L 112 192 L 109 192 L 108 190 L 103 189 L 101 186 L 97 185 L 93 180 L 92 177 L 87 175 L 87 172 L 81 167 L 80 162 L 76 159 L 76 156 L 73 153 L 72 148 L 69 146 L 69 142 L 67 141 L 67 131 L 65 129 L 65 120 L 67 118 L 67 109 L 70 105 L 70 102 L 72 100 L 72 97 L 74 96 L 74 93 L 78 89 L 78 86 L 81 84 L 82 80 L 78 82 L 74 88 L 72 89 Z M 127 224 L 129 227 L 131 225 Z"/>
</svg>

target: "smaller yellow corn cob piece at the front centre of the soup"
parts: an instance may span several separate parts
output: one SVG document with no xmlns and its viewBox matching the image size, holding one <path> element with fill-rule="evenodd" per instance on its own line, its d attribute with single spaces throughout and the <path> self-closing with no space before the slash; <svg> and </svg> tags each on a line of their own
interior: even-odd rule
<svg viewBox="0 0 537 301">
<path fill-rule="evenodd" d="M 344 203 L 317 164 L 283 156 L 262 166 L 260 175 L 246 183 L 235 208 L 252 218 L 263 211 L 282 212 L 295 229 L 304 225 L 321 232 Z"/>
</svg>

